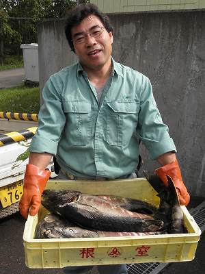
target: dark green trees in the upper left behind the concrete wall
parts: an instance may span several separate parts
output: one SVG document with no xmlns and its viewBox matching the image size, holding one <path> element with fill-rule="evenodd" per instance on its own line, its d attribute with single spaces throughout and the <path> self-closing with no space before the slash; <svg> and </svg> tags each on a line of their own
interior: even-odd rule
<svg viewBox="0 0 205 274">
<path fill-rule="evenodd" d="M 72 0 L 1 0 L 0 64 L 6 54 L 20 55 L 20 44 L 38 42 L 37 24 L 46 18 L 62 18 L 78 3 Z"/>
</svg>

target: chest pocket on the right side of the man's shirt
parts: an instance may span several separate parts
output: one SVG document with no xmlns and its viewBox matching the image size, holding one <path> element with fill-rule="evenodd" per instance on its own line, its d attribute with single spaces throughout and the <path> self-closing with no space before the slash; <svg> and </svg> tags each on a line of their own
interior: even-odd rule
<svg viewBox="0 0 205 274">
<path fill-rule="evenodd" d="M 139 103 L 107 102 L 107 142 L 109 145 L 125 146 L 136 131 Z"/>
</svg>

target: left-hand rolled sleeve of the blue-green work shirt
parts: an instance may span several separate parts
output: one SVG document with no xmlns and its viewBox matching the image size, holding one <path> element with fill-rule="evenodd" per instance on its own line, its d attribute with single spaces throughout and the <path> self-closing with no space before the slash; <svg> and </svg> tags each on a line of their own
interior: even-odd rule
<svg viewBox="0 0 205 274">
<path fill-rule="evenodd" d="M 42 91 L 43 104 L 38 115 L 38 129 L 31 140 L 29 151 L 56 155 L 61 132 L 66 123 L 62 108 L 60 79 L 50 77 Z"/>
</svg>

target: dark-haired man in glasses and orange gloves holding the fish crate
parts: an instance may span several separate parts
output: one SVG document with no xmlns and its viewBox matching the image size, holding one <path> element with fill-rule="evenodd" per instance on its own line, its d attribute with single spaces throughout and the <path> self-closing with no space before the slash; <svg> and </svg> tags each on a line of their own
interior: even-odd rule
<svg viewBox="0 0 205 274">
<path fill-rule="evenodd" d="M 40 207 L 53 155 L 60 178 L 129 178 L 135 172 L 139 145 L 161 168 L 156 173 L 167 184 L 174 180 L 181 204 L 189 203 L 176 147 L 163 124 L 149 79 L 111 58 L 113 28 L 95 5 L 79 5 L 70 12 L 66 38 L 79 63 L 52 75 L 43 90 L 39 126 L 30 147 L 20 212 L 25 219 Z M 64 269 L 85 273 L 90 267 Z M 124 274 L 126 265 L 98 266 L 100 273 Z"/>
</svg>

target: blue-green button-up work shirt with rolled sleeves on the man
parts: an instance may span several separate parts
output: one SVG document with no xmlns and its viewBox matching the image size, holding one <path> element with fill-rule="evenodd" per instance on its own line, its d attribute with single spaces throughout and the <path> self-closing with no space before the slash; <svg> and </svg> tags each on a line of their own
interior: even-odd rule
<svg viewBox="0 0 205 274">
<path fill-rule="evenodd" d="M 176 151 L 148 77 L 112 62 L 100 103 L 80 63 L 49 78 L 31 152 L 56 155 L 61 169 L 76 177 L 114 179 L 135 171 L 138 138 L 152 159 Z"/>
</svg>

